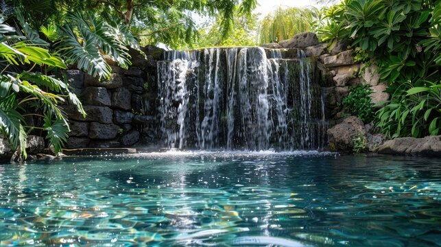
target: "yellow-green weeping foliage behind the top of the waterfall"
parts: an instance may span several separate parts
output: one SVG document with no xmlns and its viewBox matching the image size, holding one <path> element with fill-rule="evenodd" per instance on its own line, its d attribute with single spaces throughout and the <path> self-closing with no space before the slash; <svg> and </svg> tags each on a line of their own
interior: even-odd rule
<svg viewBox="0 0 441 247">
<path fill-rule="evenodd" d="M 260 44 L 279 42 L 295 34 L 308 32 L 313 23 L 314 10 L 309 8 L 281 8 L 261 21 L 257 36 Z"/>
</svg>

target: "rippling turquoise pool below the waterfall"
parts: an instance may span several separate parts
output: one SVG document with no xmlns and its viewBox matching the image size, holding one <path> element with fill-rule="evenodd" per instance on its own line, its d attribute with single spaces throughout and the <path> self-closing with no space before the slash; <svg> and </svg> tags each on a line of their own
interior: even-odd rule
<svg viewBox="0 0 441 247">
<path fill-rule="evenodd" d="M 440 246 L 436 158 L 167 152 L 0 165 L 0 246 Z"/>
</svg>

